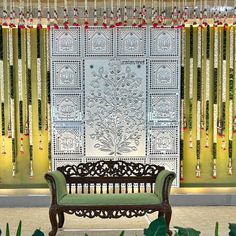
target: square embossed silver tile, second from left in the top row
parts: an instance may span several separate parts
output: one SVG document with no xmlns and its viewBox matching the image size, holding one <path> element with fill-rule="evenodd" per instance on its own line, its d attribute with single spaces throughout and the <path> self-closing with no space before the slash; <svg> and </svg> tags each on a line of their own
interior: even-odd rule
<svg viewBox="0 0 236 236">
<path fill-rule="evenodd" d="M 89 27 L 85 31 L 85 56 L 113 56 L 113 29 Z"/>
</svg>

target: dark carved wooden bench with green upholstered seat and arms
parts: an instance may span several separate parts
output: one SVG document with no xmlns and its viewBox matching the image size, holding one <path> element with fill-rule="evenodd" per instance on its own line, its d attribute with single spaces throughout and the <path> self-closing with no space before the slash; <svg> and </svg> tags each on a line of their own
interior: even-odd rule
<svg viewBox="0 0 236 236">
<path fill-rule="evenodd" d="M 64 213 L 89 218 L 131 218 L 155 211 L 165 217 L 171 235 L 169 194 L 175 173 L 162 166 L 98 161 L 58 167 L 45 178 L 52 194 L 50 236 L 63 227 Z"/>
</svg>

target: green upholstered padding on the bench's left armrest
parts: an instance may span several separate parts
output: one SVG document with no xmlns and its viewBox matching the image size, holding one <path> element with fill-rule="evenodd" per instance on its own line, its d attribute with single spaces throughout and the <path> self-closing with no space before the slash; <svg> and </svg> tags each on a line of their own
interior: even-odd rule
<svg viewBox="0 0 236 236">
<path fill-rule="evenodd" d="M 66 179 L 60 171 L 52 171 L 48 174 L 51 175 L 56 182 L 57 202 L 59 202 L 67 194 Z"/>
</svg>

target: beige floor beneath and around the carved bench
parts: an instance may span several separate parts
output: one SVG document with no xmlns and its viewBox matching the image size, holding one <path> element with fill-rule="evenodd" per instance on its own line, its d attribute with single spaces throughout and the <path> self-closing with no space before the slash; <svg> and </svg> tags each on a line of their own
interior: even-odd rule
<svg viewBox="0 0 236 236">
<path fill-rule="evenodd" d="M 149 215 L 151 220 L 157 214 Z M 22 236 L 31 236 L 35 229 L 45 235 L 50 230 L 47 208 L 0 208 L 0 228 L 5 234 L 6 223 L 10 224 L 11 235 L 15 235 L 19 220 L 22 220 Z M 219 235 L 228 235 L 228 223 L 236 223 L 236 206 L 217 207 L 173 207 L 171 227 L 192 227 L 201 231 L 201 236 L 214 235 L 216 221 L 219 222 Z M 141 236 L 148 226 L 146 217 L 102 220 L 99 218 L 77 218 L 66 215 L 65 228 L 58 236 Z"/>
</svg>

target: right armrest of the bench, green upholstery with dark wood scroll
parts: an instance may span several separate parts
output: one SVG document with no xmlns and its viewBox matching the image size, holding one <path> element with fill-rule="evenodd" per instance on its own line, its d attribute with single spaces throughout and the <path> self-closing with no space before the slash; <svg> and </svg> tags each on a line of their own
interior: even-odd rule
<svg viewBox="0 0 236 236">
<path fill-rule="evenodd" d="M 161 202 L 169 203 L 170 189 L 176 174 L 173 171 L 162 170 L 156 178 L 154 193 Z"/>
</svg>

